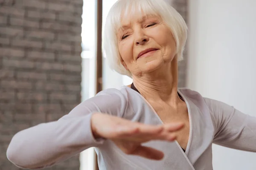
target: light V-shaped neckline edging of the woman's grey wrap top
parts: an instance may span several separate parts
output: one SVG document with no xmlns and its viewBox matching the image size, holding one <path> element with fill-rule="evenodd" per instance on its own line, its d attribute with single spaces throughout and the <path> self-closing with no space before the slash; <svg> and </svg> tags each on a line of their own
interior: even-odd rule
<svg viewBox="0 0 256 170">
<path fill-rule="evenodd" d="M 157 116 L 157 118 L 160 120 L 160 122 L 163 124 L 162 119 L 160 119 L 160 117 L 158 116 L 158 114 L 156 113 L 156 111 L 154 110 L 153 106 L 140 94 L 140 92 L 138 90 L 134 90 L 133 88 L 130 88 L 128 86 L 124 86 L 125 88 L 128 88 L 129 90 L 134 91 L 135 93 L 137 93 L 147 104 L 148 106 L 152 109 L 152 111 L 154 112 L 154 114 Z M 135 87 L 135 86 L 134 86 Z M 177 142 L 177 140 L 175 140 L 175 143 L 177 144 L 177 146 L 180 148 L 180 150 L 182 151 L 183 155 L 185 156 L 185 158 L 187 159 L 187 161 L 189 162 L 189 164 L 192 166 L 191 162 L 189 161 L 187 155 L 190 149 L 190 145 L 191 145 L 191 141 L 192 141 L 192 131 L 193 131 L 193 127 L 192 127 L 192 118 L 191 118 L 191 110 L 190 110 L 190 106 L 189 106 L 189 102 L 187 101 L 186 97 L 180 92 L 180 89 L 177 89 L 177 93 L 184 99 L 184 102 L 186 103 L 186 107 L 188 110 L 188 115 L 189 115 L 189 140 L 186 146 L 186 151 L 183 152 L 183 148 L 180 146 L 180 144 Z M 193 167 L 193 166 L 192 166 Z"/>
</svg>

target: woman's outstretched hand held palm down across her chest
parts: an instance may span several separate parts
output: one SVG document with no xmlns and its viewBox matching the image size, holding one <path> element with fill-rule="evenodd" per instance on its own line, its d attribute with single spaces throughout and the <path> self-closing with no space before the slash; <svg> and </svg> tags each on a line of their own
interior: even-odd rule
<svg viewBox="0 0 256 170">
<path fill-rule="evenodd" d="M 163 152 L 141 144 L 150 140 L 174 141 L 175 132 L 183 123 L 145 125 L 103 113 L 93 113 L 91 128 L 93 136 L 112 140 L 124 153 L 160 160 Z"/>
</svg>

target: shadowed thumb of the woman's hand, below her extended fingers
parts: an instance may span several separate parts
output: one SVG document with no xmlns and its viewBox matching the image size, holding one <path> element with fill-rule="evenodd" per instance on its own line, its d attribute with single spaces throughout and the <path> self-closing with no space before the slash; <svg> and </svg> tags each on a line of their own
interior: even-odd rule
<svg viewBox="0 0 256 170">
<path fill-rule="evenodd" d="M 151 147 L 145 147 L 145 146 L 139 146 L 134 150 L 134 153 L 132 153 L 137 156 L 142 156 L 147 159 L 154 159 L 154 160 L 161 160 L 163 159 L 163 152 L 160 150 L 156 150 Z"/>
</svg>

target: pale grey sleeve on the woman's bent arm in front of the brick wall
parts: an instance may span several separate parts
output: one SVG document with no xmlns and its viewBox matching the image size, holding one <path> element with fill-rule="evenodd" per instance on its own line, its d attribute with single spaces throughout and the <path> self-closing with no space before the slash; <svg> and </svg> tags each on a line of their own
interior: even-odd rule
<svg viewBox="0 0 256 170">
<path fill-rule="evenodd" d="M 90 119 L 94 112 L 120 116 L 127 99 L 116 89 L 108 89 L 74 108 L 58 121 L 30 127 L 15 134 L 7 149 L 16 166 L 41 169 L 64 161 L 103 140 L 93 138 Z"/>
</svg>

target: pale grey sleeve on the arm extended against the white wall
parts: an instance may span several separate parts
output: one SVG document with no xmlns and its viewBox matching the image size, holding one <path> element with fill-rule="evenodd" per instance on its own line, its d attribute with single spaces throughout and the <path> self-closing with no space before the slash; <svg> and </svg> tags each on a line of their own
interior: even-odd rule
<svg viewBox="0 0 256 170">
<path fill-rule="evenodd" d="M 233 106 L 205 98 L 215 124 L 213 142 L 224 147 L 256 152 L 256 117 Z"/>
</svg>

